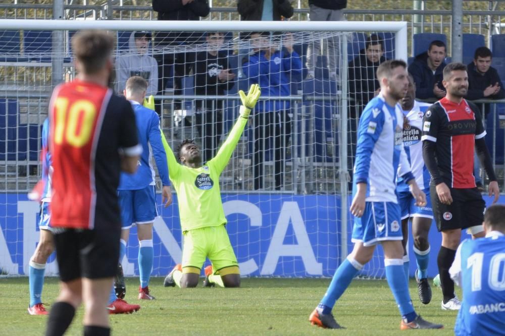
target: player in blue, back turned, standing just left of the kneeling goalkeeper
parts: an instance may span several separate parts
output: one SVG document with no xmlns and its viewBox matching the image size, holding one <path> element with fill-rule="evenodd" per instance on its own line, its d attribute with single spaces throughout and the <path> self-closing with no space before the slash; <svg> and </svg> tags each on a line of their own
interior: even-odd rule
<svg viewBox="0 0 505 336">
<path fill-rule="evenodd" d="M 122 173 L 118 198 L 121 208 L 121 244 L 120 262 L 126 254 L 126 243 L 130 236 L 130 228 L 137 226 L 138 271 L 140 286 L 138 299 L 153 300 L 149 292 L 149 279 L 153 270 L 153 223 L 159 216 L 156 204 L 156 181 L 153 159 L 156 161 L 158 173 L 162 181 L 162 202 L 167 207 L 172 203 L 172 191 L 168 177 L 168 166 L 161 139 L 160 118 L 153 109 L 142 105 L 147 92 L 147 81 L 139 76 L 128 78 L 123 94 L 128 99 L 135 113 L 138 140 L 142 146 L 142 155 L 137 163 L 135 174 Z M 109 303 L 115 299 L 115 291 L 111 292 Z"/>
</svg>

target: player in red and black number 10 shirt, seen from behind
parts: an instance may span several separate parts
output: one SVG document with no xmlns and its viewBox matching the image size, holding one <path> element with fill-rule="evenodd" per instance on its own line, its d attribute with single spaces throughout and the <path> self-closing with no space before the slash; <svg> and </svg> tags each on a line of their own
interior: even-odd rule
<svg viewBox="0 0 505 336">
<path fill-rule="evenodd" d="M 107 87 L 114 38 L 83 31 L 72 46 L 78 75 L 57 86 L 49 103 L 60 295 L 46 335 L 63 335 L 84 302 L 84 335 L 101 336 L 110 334 L 107 294 L 119 260 L 119 175 L 136 171 L 142 148 L 130 104 Z"/>
</svg>

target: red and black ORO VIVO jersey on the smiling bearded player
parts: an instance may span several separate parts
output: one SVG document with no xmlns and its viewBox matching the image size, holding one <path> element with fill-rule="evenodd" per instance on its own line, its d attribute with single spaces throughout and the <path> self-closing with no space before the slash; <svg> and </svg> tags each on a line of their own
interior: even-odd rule
<svg viewBox="0 0 505 336">
<path fill-rule="evenodd" d="M 452 188 L 475 188 L 475 139 L 486 135 L 478 107 L 445 97 L 426 111 L 423 141 L 436 143 L 436 160 L 443 182 Z M 433 180 L 432 180 L 433 181 Z"/>
</svg>

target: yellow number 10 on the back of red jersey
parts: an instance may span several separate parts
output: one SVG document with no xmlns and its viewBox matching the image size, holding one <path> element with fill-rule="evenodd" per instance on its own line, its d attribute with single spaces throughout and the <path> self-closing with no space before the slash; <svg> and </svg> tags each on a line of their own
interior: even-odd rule
<svg viewBox="0 0 505 336">
<path fill-rule="evenodd" d="M 62 144 L 65 139 L 69 145 L 82 147 L 91 136 L 96 107 L 84 99 L 77 100 L 70 106 L 68 103 L 68 98 L 56 99 L 55 143 Z"/>
</svg>

